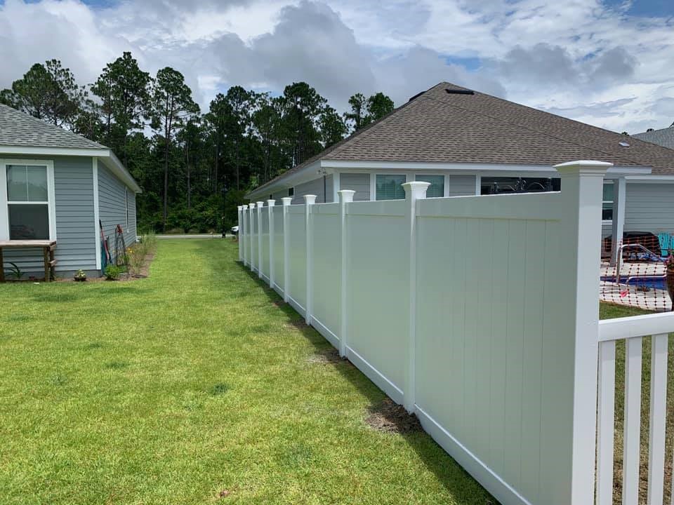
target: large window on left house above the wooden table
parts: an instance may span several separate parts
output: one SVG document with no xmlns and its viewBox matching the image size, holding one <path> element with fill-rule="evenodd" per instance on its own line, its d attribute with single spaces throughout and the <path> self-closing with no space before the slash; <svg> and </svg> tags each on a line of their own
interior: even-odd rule
<svg viewBox="0 0 674 505">
<path fill-rule="evenodd" d="M 9 238 L 50 238 L 47 167 L 27 164 L 7 164 L 5 167 Z"/>
</svg>

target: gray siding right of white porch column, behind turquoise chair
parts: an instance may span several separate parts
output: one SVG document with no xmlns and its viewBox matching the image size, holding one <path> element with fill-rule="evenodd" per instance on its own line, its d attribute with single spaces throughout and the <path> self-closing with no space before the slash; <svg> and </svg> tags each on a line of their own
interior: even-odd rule
<svg viewBox="0 0 674 505">
<path fill-rule="evenodd" d="M 625 231 L 674 233 L 674 184 L 626 185 Z"/>
</svg>

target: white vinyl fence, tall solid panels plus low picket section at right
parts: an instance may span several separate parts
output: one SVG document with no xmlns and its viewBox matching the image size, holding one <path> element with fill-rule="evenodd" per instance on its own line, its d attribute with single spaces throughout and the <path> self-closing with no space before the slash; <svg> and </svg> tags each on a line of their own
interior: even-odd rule
<svg viewBox="0 0 674 505">
<path fill-rule="evenodd" d="M 251 203 L 239 208 L 239 259 L 503 504 L 592 504 L 600 336 L 609 403 L 605 341 L 637 336 L 600 333 L 597 316 L 608 166 L 557 166 L 557 193 L 425 198 L 427 182 L 408 182 L 399 201 L 353 202 L 343 190 L 338 203 Z M 636 319 L 632 328 L 642 328 Z M 657 332 L 674 330 L 672 321 L 661 318 Z M 654 345 L 666 363 L 666 342 Z M 634 374 L 630 366 L 638 408 Z M 613 432 L 602 430 L 612 405 L 599 412 L 598 493 L 613 482 Z M 638 452 L 638 433 L 633 440 L 626 450 Z M 624 503 L 636 505 L 631 489 Z M 597 494 L 597 503 L 611 501 Z"/>
</svg>

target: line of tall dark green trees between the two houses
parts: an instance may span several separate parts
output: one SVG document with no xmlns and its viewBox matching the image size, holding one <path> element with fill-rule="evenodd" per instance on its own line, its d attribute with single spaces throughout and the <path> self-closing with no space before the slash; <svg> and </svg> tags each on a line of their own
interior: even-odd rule
<svg viewBox="0 0 674 505">
<path fill-rule="evenodd" d="M 247 191 L 394 108 L 383 93 L 356 93 L 339 114 L 296 82 L 282 95 L 232 86 L 201 112 L 183 74 L 152 76 L 128 52 L 88 86 L 58 60 L 36 63 L 0 103 L 110 147 L 143 188 L 143 229 L 200 232 L 232 226 Z"/>
</svg>

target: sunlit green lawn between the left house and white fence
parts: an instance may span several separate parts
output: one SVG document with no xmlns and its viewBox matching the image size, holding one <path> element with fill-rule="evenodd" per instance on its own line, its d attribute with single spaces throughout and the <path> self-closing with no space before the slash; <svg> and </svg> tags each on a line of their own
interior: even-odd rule
<svg viewBox="0 0 674 505">
<path fill-rule="evenodd" d="M 3 504 L 476 504 L 425 433 L 277 307 L 227 241 L 161 241 L 150 278 L 0 285 Z M 227 490 L 227 497 L 219 497 Z"/>
</svg>

